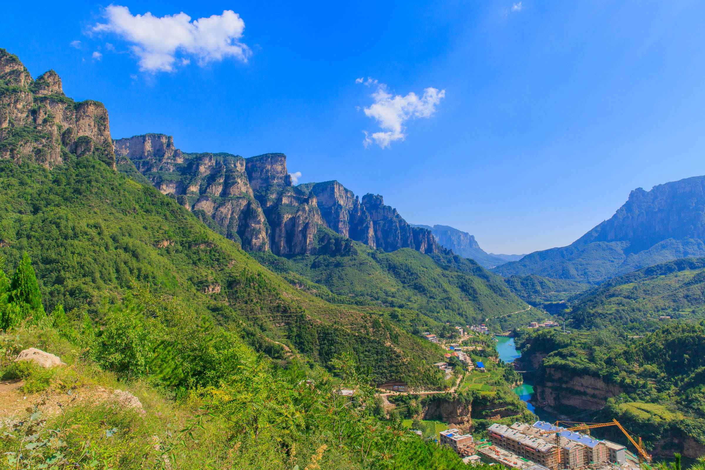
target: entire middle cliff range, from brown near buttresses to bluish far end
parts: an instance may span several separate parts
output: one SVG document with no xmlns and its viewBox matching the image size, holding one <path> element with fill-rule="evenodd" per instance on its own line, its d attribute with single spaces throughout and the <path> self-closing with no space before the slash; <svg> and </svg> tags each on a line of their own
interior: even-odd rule
<svg viewBox="0 0 705 470">
<path fill-rule="evenodd" d="M 286 155 L 250 158 L 186 153 L 173 137 L 135 135 L 114 142 L 118 168 L 132 168 L 190 211 L 204 211 L 244 249 L 310 254 L 319 225 L 384 251 L 444 250 L 431 232 L 413 227 L 379 195 L 360 198 L 338 181 L 293 186 Z"/>
</svg>

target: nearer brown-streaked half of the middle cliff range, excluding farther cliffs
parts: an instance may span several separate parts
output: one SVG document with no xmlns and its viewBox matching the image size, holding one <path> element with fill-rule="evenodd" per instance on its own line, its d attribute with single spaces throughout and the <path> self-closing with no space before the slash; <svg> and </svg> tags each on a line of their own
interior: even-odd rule
<svg viewBox="0 0 705 470">
<path fill-rule="evenodd" d="M 291 185 L 286 155 L 185 153 L 163 134 L 119 139 L 114 147 L 120 165 L 131 162 L 162 193 L 191 211 L 204 211 L 243 248 L 311 252 L 323 219 L 316 197 Z"/>
</svg>

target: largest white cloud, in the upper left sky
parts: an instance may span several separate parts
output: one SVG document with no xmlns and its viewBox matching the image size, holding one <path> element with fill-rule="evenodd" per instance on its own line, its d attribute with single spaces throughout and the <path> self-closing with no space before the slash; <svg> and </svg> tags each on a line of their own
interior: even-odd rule
<svg viewBox="0 0 705 470">
<path fill-rule="evenodd" d="M 105 9 L 107 23 L 99 23 L 92 32 L 114 32 L 133 43 L 133 53 L 140 59 L 140 69 L 149 72 L 173 72 L 177 54 L 198 58 L 199 65 L 234 57 L 246 62 L 250 48 L 240 42 L 245 22 L 232 10 L 222 15 L 191 21 L 186 13 L 161 18 L 152 13 L 133 16 L 126 6 L 111 5 Z"/>
</svg>

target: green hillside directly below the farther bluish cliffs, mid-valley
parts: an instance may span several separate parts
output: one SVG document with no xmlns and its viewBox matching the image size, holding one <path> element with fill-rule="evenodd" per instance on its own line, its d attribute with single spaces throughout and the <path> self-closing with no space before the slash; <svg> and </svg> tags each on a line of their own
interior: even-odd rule
<svg viewBox="0 0 705 470">
<path fill-rule="evenodd" d="M 386 253 L 326 228 L 315 235 L 313 254 L 252 256 L 294 283 L 324 286 L 310 287 L 333 302 L 413 310 L 441 323 L 484 323 L 528 307 L 474 261 L 408 248 Z"/>
</svg>

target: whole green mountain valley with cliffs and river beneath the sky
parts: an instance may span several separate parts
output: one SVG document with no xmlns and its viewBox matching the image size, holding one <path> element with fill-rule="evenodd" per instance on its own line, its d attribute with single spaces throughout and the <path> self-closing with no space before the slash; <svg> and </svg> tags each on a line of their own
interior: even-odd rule
<svg viewBox="0 0 705 470">
<path fill-rule="evenodd" d="M 282 153 L 113 139 L 103 104 L 4 49 L 0 79 L 3 465 L 460 469 L 441 432 L 479 449 L 539 419 L 705 455 L 705 177 L 494 255 L 380 194 L 298 184 Z"/>
</svg>

